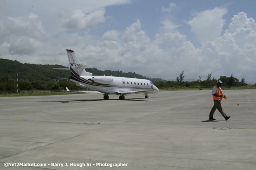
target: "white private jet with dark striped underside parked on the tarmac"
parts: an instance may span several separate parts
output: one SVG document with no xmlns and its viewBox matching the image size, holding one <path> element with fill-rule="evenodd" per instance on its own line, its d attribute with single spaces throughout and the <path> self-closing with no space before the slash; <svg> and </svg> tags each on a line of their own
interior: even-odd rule
<svg viewBox="0 0 256 170">
<path fill-rule="evenodd" d="M 105 75 L 92 75 L 85 71 L 73 50 L 67 50 L 69 68 L 71 71 L 70 80 L 77 86 L 88 87 L 96 91 L 75 91 L 81 93 L 103 93 L 104 99 L 109 99 L 110 94 L 119 95 L 120 100 L 125 99 L 125 95 L 144 93 L 145 98 L 149 98 L 148 93 L 158 92 L 158 88 L 147 79 L 136 79 L 127 77 L 114 77 Z M 69 69 L 67 68 L 67 69 Z M 69 89 L 66 87 L 67 91 Z"/>
</svg>

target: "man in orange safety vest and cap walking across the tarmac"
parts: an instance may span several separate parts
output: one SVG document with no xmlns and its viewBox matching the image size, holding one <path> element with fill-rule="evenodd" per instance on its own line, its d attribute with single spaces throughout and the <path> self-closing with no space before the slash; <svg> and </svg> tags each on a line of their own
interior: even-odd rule
<svg viewBox="0 0 256 170">
<path fill-rule="evenodd" d="M 216 109 L 219 110 L 221 115 L 227 120 L 230 118 L 230 116 L 227 116 L 225 112 L 223 112 L 223 109 L 221 107 L 220 101 L 223 99 L 223 92 L 220 88 L 223 82 L 220 80 L 217 81 L 216 86 L 212 89 L 212 98 L 214 99 L 214 106 L 211 108 L 211 112 L 209 114 L 209 120 L 216 120 L 213 118 L 214 112 Z"/>
</svg>

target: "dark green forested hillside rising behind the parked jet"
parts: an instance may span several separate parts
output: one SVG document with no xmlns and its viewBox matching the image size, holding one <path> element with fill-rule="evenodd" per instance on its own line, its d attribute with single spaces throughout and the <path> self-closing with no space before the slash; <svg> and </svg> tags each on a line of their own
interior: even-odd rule
<svg viewBox="0 0 256 170">
<path fill-rule="evenodd" d="M 65 68 L 65 66 L 61 65 L 49 65 L 49 64 L 27 64 L 20 63 L 18 61 L 1 59 L 0 58 L 0 77 L 4 77 L 4 75 L 8 75 L 11 79 L 16 79 L 16 72 L 18 72 L 18 76 L 20 80 L 34 82 L 34 81 L 54 81 L 56 79 L 69 79 L 70 71 L 67 70 L 54 70 L 52 68 Z M 124 73 L 122 71 L 110 71 L 105 70 L 101 71 L 97 68 L 86 68 L 86 71 L 93 73 L 93 75 L 113 75 L 118 77 L 131 77 L 131 78 L 141 78 L 141 79 L 150 79 L 152 82 L 164 81 L 163 79 L 156 78 L 148 78 L 143 75 L 139 75 L 136 73 Z"/>
</svg>

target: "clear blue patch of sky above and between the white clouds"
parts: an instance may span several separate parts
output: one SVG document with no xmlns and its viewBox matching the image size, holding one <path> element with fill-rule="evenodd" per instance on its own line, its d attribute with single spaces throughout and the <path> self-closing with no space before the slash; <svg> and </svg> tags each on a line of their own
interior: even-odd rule
<svg viewBox="0 0 256 170">
<path fill-rule="evenodd" d="M 168 14 L 164 14 L 162 7 L 167 8 L 170 3 L 175 3 L 177 8 L 172 9 Z M 227 14 L 223 16 L 226 23 L 223 26 L 222 33 L 228 29 L 232 17 L 241 11 L 246 11 L 249 18 L 256 18 L 256 1 L 253 0 L 245 2 L 241 2 L 240 0 L 138 0 L 133 1 L 131 4 L 124 4 L 118 7 L 106 7 L 105 15 L 112 16 L 114 21 L 109 26 L 106 24 L 105 26 L 96 28 L 96 30 L 92 30 L 91 33 L 101 36 L 106 29 L 123 31 L 127 27 L 127 23 L 132 23 L 140 19 L 142 29 L 151 40 L 154 40 L 156 33 L 163 26 L 161 21 L 165 18 L 171 18 L 176 24 L 181 25 L 178 28 L 180 33 L 187 35 L 187 40 L 190 40 L 199 48 L 201 44 L 194 40 L 194 35 L 190 31 L 191 27 L 185 21 L 190 20 L 193 17 L 193 13 L 215 7 L 223 7 L 228 10 Z"/>
</svg>

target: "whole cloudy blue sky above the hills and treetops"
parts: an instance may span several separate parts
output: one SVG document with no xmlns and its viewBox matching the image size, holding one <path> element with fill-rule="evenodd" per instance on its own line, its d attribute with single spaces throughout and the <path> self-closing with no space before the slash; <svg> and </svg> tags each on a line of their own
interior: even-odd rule
<svg viewBox="0 0 256 170">
<path fill-rule="evenodd" d="M 0 0 L 1 58 L 256 82 L 256 1 Z"/>
</svg>

